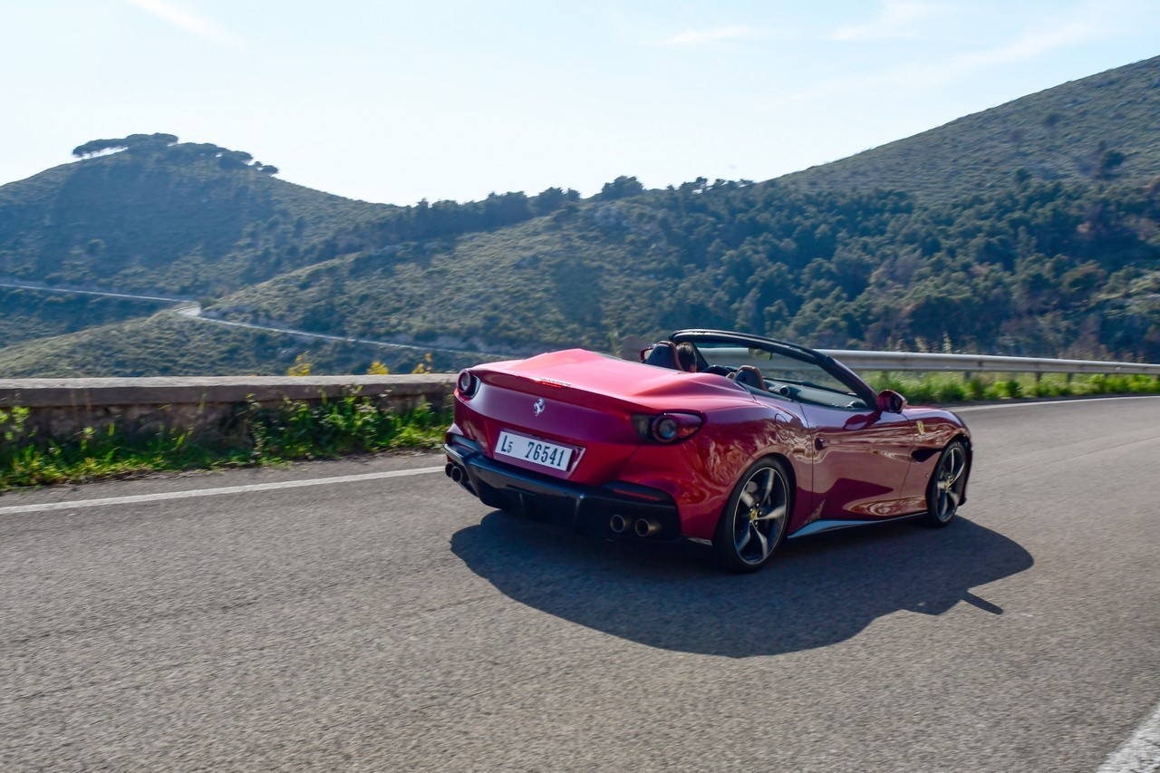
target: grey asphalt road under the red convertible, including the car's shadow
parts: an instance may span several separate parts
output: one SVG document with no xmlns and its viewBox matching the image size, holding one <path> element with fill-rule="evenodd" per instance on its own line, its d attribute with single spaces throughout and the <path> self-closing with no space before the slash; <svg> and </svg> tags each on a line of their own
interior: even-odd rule
<svg viewBox="0 0 1160 773">
<path fill-rule="evenodd" d="M 1160 399 L 963 416 L 950 528 L 744 577 L 430 455 L 0 496 L 0 770 L 1094 772 L 1160 699 Z"/>
</svg>

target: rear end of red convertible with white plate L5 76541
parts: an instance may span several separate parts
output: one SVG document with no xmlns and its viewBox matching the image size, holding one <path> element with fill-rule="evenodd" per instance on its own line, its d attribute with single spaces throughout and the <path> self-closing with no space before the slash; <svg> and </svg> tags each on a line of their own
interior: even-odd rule
<svg viewBox="0 0 1160 773">
<path fill-rule="evenodd" d="M 662 407 L 695 405 L 696 382 L 580 349 L 472 368 L 456 388 L 447 474 L 492 507 L 593 534 L 676 540 L 679 492 L 622 471 L 639 449 L 675 449 L 697 433 L 703 411 Z"/>
</svg>

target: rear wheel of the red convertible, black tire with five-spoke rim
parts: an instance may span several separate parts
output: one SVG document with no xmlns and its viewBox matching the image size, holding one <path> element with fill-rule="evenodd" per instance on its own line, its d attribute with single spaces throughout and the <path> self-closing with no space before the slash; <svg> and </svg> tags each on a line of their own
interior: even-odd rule
<svg viewBox="0 0 1160 773">
<path fill-rule="evenodd" d="M 769 563 L 793 512 L 790 481 L 777 458 L 757 461 L 738 479 L 713 534 L 713 558 L 723 569 L 755 572 Z"/>
</svg>

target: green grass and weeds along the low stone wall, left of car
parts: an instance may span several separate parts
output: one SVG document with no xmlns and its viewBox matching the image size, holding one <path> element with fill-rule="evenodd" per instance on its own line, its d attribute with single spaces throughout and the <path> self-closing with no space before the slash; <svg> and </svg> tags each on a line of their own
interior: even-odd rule
<svg viewBox="0 0 1160 773">
<path fill-rule="evenodd" d="M 396 413 L 368 397 L 270 407 L 252 404 L 240 440 L 197 441 L 190 432 L 135 436 L 115 425 L 64 440 L 36 436 L 29 410 L 0 410 L 0 491 L 150 472 L 277 464 L 398 448 L 437 448 L 450 418 L 420 407 Z"/>
</svg>

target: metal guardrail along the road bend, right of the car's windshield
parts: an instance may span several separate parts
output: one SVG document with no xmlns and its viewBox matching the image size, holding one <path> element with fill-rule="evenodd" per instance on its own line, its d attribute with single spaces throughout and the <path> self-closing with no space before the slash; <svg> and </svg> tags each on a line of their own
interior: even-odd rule
<svg viewBox="0 0 1160 773">
<path fill-rule="evenodd" d="M 945 370 L 957 373 L 1093 373 L 1160 376 L 1160 364 L 1100 360 L 1051 360 L 991 354 L 923 354 L 818 349 L 855 370 Z"/>
</svg>

